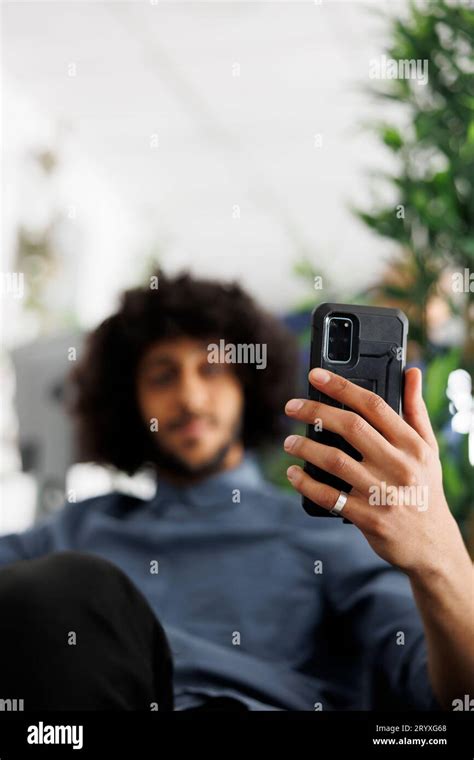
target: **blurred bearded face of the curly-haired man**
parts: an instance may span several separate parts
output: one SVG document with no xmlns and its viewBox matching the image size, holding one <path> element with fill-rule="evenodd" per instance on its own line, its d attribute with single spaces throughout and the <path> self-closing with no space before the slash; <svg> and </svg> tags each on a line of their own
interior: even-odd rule
<svg viewBox="0 0 474 760">
<path fill-rule="evenodd" d="M 220 469 L 239 439 L 242 385 L 231 365 L 208 362 L 210 342 L 163 340 L 139 363 L 138 405 L 149 429 L 158 422 L 153 434 L 165 470 L 192 475 Z"/>
</svg>

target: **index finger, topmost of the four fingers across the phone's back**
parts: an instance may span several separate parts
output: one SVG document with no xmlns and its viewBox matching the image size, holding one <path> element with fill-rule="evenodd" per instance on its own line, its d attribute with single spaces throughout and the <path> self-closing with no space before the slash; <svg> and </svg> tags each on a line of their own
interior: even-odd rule
<svg viewBox="0 0 474 760">
<path fill-rule="evenodd" d="M 418 444 L 418 436 L 377 393 L 351 383 L 326 369 L 312 369 L 309 380 L 318 390 L 349 406 L 370 422 L 396 448 Z"/>
</svg>

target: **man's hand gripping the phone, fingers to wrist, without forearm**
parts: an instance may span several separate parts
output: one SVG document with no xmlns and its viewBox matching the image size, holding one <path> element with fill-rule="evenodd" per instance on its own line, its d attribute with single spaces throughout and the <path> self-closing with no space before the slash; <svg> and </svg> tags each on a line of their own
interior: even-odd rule
<svg viewBox="0 0 474 760">
<path fill-rule="evenodd" d="M 312 385 L 354 409 L 293 399 L 286 413 L 339 433 L 362 461 L 304 436 L 289 436 L 285 449 L 352 485 L 344 516 L 364 533 L 383 559 L 408 573 L 439 568 L 464 550 L 443 493 L 438 446 L 421 395 L 421 373 L 407 370 L 403 420 L 380 396 L 326 370 L 312 370 Z M 297 406 L 299 407 L 297 408 Z M 355 412 L 358 412 L 356 414 Z M 313 480 L 301 467 L 288 469 L 291 484 L 330 510 L 339 491 Z"/>
</svg>

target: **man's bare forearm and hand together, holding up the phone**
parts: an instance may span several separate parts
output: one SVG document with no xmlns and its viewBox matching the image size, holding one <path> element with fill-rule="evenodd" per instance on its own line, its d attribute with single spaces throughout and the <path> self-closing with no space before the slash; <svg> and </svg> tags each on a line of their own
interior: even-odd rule
<svg viewBox="0 0 474 760">
<path fill-rule="evenodd" d="M 405 374 L 404 419 L 376 394 L 332 372 L 312 370 L 309 379 L 358 414 L 301 399 L 289 401 L 286 413 L 310 424 L 320 421 L 351 443 L 362 461 L 302 436 L 289 436 L 285 449 L 353 486 L 343 514 L 380 557 L 409 576 L 425 629 L 431 683 L 440 704 L 452 709 L 454 699 L 474 694 L 473 566 L 444 496 L 421 373 Z M 300 493 L 322 507 L 330 510 L 336 503 L 339 492 L 301 467 L 292 465 L 287 474 Z M 406 493 L 414 496 L 407 500 Z"/>
</svg>

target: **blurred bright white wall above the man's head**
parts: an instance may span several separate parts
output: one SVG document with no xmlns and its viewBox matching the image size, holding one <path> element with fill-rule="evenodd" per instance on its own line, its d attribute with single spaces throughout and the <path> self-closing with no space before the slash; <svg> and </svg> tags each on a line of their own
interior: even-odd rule
<svg viewBox="0 0 474 760">
<path fill-rule="evenodd" d="M 289 277 L 302 253 L 368 282 L 387 248 L 348 204 L 369 200 L 365 172 L 388 160 L 361 129 L 381 115 L 362 91 L 386 28 L 373 5 L 3 5 L 6 255 L 15 222 L 34 215 L 22 150 L 36 143 L 57 150 L 75 210 L 69 295 L 84 324 L 153 247 L 172 271 L 239 277 L 277 308 L 302 292 Z"/>
</svg>

